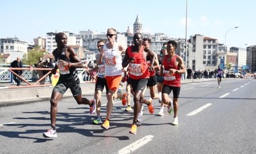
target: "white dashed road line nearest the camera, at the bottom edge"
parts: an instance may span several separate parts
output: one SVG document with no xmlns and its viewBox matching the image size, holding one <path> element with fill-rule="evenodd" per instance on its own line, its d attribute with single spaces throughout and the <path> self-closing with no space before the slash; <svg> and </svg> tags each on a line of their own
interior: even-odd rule
<svg viewBox="0 0 256 154">
<path fill-rule="evenodd" d="M 148 143 L 149 141 L 152 141 L 153 137 L 154 137 L 153 135 L 148 135 L 146 137 L 143 137 L 142 139 L 139 139 L 138 141 L 131 143 L 131 145 L 128 145 L 127 147 L 124 147 L 123 149 L 119 150 L 118 153 L 119 154 L 132 153 L 139 147 L 142 147 L 143 145 L 146 145 L 146 143 Z"/>
</svg>

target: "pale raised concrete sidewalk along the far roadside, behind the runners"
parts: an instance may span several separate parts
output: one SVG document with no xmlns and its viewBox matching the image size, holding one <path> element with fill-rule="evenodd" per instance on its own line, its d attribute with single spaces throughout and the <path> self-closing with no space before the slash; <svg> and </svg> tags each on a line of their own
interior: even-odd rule
<svg viewBox="0 0 256 154">
<path fill-rule="evenodd" d="M 205 82 L 217 80 L 216 78 L 205 78 L 205 79 L 191 79 L 191 80 L 181 80 L 182 84 L 190 82 Z M 26 84 L 26 83 L 25 83 Z M 24 84 L 24 85 L 25 85 Z M 121 82 L 123 86 L 120 86 L 121 90 L 125 90 L 126 82 Z M 4 86 L 13 86 L 15 83 L 6 83 L 0 84 L 0 87 Z M 94 94 L 95 82 L 86 82 L 80 84 L 82 88 L 82 94 Z M 0 106 L 7 106 L 13 104 L 24 104 L 29 102 L 38 102 L 40 100 L 50 100 L 51 93 L 53 91 L 53 86 L 43 86 L 43 87 L 31 87 L 31 88 L 9 88 L 9 89 L 0 89 L 1 100 Z M 63 95 L 65 97 L 71 97 L 70 90 Z"/>
</svg>

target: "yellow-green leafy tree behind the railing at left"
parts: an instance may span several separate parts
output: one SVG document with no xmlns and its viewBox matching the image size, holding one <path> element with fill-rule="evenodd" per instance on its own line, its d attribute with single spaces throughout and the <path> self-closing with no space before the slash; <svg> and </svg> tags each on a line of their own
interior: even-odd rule
<svg viewBox="0 0 256 154">
<path fill-rule="evenodd" d="M 24 54 L 22 58 L 23 64 L 34 65 L 38 63 L 38 59 L 44 56 L 44 52 L 40 51 L 40 47 L 36 46 L 34 49 L 30 50 L 28 54 Z"/>
</svg>

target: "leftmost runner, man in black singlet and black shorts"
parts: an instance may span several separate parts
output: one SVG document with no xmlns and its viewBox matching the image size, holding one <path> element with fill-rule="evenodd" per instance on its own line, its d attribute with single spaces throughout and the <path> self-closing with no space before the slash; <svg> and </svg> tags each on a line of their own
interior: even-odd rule
<svg viewBox="0 0 256 154">
<path fill-rule="evenodd" d="M 56 117 L 57 106 L 59 100 L 61 100 L 63 94 L 70 88 L 73 97 L 77 104 L 89 104 L 90 114 L 93 114 L 96 110 L 95 100 L 88 100 L 82 98 L 82 90 L 79 84 L 79 78 L 77 76 L 76 68 L 82 68 L 83 64 L 79 61 L 78 56 L 75 54 L 73 48 L 67 46 L 67 35 L 65 33 L 57 33 L 55 35 L 55 41 L 57 42 L 57 48 L 53 51 L 55 61 L 57 64 L 53 68 L 52 73 L 56 74 L 59 68 L 59 81 L 51 95 L 51 128 L 43 133 L 44 137 L 57 137 L 56 132 Z"/>
</svg>

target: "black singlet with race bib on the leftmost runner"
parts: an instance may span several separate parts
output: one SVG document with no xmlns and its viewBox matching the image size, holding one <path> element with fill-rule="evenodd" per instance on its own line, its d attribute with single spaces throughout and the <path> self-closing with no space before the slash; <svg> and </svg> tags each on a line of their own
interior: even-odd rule
<svg viewBox="0 0 256 154">
<path fill-rule="evenodd" d="M 57 53 L 57 49 L 53 51 L 53 56 L 55 56 L 55 61 L 58 62 L 59 60 L 65 60 L 66 62 L 73 62 L 65 55 L 65 51 L 67 50 L 68 46 L 65 46 L 61 54 Z M 59 80 L 63 82 L 75 83 L 78 79 L 76 68 L 69 68 L 68 66 L 59 66 Z"/>
</svg>

